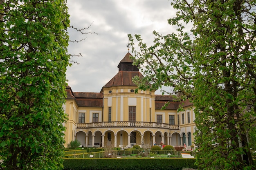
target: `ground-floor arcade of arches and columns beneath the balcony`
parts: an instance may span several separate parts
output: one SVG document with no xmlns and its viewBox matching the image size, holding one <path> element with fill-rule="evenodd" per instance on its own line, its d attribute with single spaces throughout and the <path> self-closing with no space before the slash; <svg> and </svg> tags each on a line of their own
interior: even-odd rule
<svg viewBox="0 0 256 170">
<path fill-rule="evenodd" d="M 182 132 L 176 126 L 110 126 L 101 124 L 81 125 L 78 124 L 75 132 L 75 139 L 81 142 L 84 147 L 120 147 L 131 148 L 133 145 L 140 145 L 143 148 L 151 148 L 155 141 L 159 145 L 191 146 L 193 137 L 190 131 Z"/>
</svg>

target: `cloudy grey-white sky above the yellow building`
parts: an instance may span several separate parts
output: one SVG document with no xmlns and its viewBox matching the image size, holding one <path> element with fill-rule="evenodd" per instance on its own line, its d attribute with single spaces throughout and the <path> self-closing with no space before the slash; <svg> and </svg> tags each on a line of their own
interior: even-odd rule
<svg viewBox="0 0 256 170">
<path fill-rule="evenodd" d="M 67 0 L 70 25 L 85 28 L 96 34 L 82 35 L 69 29 L 69 45 L 73 64 L 67 68 L 68 85 L 74 92 L 100 92 L 118 73 L 117 65 L 128 52 L 128 34 L 140 34 L 144 42 L 152 44 L 153 30 L 162 34 L 175 31 L 167 23 L 175 15 L 168 0 Z M 131 50 L 130 50 L 131 53 Z M 160 92 L 159 92 L 160 94 Z"/>
</svg>

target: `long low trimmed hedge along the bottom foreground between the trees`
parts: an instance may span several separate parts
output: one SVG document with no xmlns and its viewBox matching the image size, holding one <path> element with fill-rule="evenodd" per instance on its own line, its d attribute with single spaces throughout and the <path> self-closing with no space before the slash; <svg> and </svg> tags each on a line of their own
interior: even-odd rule
<svg viewBox="0 0 256 170">
<path fill-rule="evenodd" d="M 63 170 L 181 170 L 197 168 L 195 159 L 64 159 Z"/>
</svg>

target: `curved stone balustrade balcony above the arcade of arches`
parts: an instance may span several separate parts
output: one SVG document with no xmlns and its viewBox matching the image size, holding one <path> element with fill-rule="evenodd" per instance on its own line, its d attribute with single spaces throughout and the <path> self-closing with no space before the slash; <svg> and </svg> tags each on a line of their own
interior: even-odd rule
<svg viewBox="0 0 256 170">
<path fill-rule="evenodd" d="M 144 121 L 111 121 L 111 122 L 94 122 L 94 123 L 79 123 L 76 128 L 106 128 L 106 127 L 140 127 L 140 128 L 164 128 L 169 130 L 180 130 L 179 125 L 144 122 Z"/>
</svg>

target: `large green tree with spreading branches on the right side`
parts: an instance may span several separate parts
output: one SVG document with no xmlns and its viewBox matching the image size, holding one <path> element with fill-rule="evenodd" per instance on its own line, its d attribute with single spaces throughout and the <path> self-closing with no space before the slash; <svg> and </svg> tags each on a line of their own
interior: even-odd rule
<svg viewBox="0 0 256 170">
<path fill-rule="evenodd" d="M 195 106 L 199 169 L 253 169 L 256 121 L 256 15 L 254 0 L 174 0 L 176 33 L 147 47 L 128 35 L 141 89 L 173 87 L 177 100 Z M 184 25 L 192 25 L 185 31 Z M 144 82 L 150 82 L 148 85 Z"/>
</svg>

